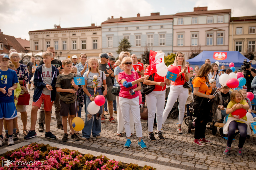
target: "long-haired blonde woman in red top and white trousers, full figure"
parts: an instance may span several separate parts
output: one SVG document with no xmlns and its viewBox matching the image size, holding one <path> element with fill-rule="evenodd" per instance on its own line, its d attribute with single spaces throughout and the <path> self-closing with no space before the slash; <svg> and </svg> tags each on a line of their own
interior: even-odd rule
<svg viewBox="0 0 256 170">
<path fill-rule="evenodd" d="M 188 98 L 188 88 L 183 87 L 185 81 L 189 82 L 189 67 L 186 66 L 185 56 L 182 52 L 177 52 L 174 59 L 174 66 L 178 66 L 180 73 L 175 81 L 171 81 L 170 92 L 167 98 L 166 106 L 163 113 L 163 124 L 167 119 L 169 112 L 177 98 L 179 98 L 179 124 L 177 132 L 182 134 L 181 124 L 185 113 L 185 104 Z"/>
</svg>

